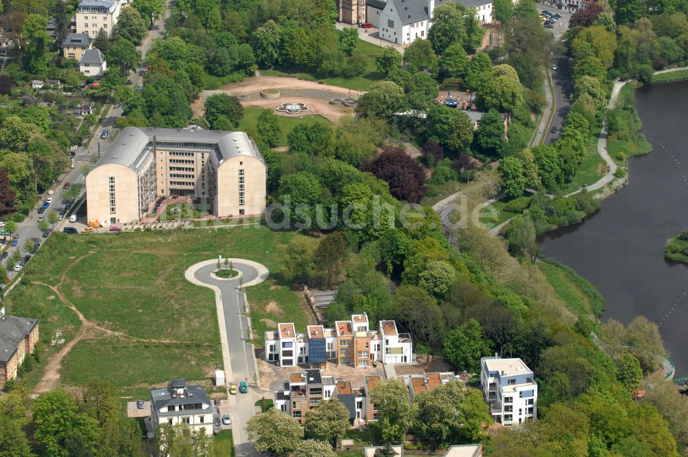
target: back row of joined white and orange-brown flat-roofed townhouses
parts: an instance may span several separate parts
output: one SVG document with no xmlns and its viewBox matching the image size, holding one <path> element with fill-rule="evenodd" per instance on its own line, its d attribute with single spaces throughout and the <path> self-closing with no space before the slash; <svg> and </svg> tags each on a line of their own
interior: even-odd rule
<svg viewBox="0 0 688 457">
<path fill-rule="evenodd" d="M 265 357 L 282 367 L 323 368 L 327 361 L 357 368 L 376 362 L 412 363 L 410 335 L 399 333 L 395 321 L 380 321 L 378 328 L 370 330 L 365 314 L 336 321 L 334 329 L 308 326 L 305 334 L 297 334 L 294 323 L 279 323 L 277 330 L 265 332 Z"/>
</svg>

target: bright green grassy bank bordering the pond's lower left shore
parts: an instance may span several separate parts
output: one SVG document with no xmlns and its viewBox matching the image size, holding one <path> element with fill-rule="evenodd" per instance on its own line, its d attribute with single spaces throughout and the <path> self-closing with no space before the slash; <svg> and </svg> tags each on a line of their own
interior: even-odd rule
<svg viewBox="0 0 688 457">
<path fill-rule="evenodd" d="M 547 282 L 570 312 L 577 316 L 600 317 L 604 299 L 590 282 L 566 265 L 556 262 L 537 262 Z M 596 322 L 596 319 L 590 319 Z"/>
</svg>

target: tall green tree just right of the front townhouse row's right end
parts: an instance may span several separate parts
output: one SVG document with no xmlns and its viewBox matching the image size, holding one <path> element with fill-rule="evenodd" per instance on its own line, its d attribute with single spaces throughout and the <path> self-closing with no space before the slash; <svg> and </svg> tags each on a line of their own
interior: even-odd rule
<svg viewBox="0 0 688 457">
<path fill-rule="evenodd" d="M 409 390 L 398 379 L 380 381 L 370 390 L 370 401 L 378 410 L 378 424 L 383 440 L 401 443 L 413 423 Z"/>
</svg>

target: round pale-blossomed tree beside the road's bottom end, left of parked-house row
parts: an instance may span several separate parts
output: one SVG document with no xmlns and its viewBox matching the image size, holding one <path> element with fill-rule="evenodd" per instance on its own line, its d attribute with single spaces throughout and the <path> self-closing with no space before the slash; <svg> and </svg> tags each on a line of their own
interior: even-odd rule
<svg viewBox="0 0 688 457">
<path fill-rule="evenodd" d="M 246 432 L 258 451 L 276 454 L 298 449 L 303 438 L 301 425 L 275 408 L 252 416 L 246 423 Z"/>
</svg>

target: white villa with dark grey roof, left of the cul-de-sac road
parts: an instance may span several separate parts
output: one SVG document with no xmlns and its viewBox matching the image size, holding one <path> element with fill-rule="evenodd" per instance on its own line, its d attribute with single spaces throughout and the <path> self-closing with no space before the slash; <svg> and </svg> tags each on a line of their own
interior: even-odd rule
<svg viewBox="0 0 688 457">
<path fill-rule="evenodd" d="M 186 385 L 184 379 L 173 379 L 167 387 L 151 389 L 151 424 L 185 424 L 191 432 L 205 429 L 213 435 L 213 403 L 200 385 Z"/>
</svg>

